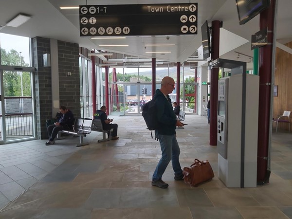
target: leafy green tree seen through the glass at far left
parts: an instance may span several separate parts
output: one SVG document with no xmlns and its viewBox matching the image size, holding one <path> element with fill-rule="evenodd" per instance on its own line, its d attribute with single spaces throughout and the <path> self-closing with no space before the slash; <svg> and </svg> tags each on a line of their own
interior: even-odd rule
<svg viewBox="0 0 292 219">
<path fill-rule="evenodd" d="M 16 50 L 11 49 L 10 52 L 6 52 L 1 48 L 0 51 L 2 65 L 29 66 Z M 4 96 L 31 96 L 31 75 L 25 72 L 4 71 L 3 87 Z"/>
</svg>

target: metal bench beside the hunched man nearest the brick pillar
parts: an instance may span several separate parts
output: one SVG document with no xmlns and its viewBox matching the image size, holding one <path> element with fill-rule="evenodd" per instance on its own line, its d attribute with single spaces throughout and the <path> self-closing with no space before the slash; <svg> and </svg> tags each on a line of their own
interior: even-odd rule
<svg viewBox="0 0 292 219">
<path fill-rule="evenodd" d="M 59 131 L 59 133 L 66 133 L 70 135 L 74 135 L 74 137 L 79 137 L 79 144 L 76 145 L 76 147 L 88 145 L 89 143 L 84 143 L 83 137 L 86 137 L 86 135 L 91 133 L 91 126 L 92 126 L 92 119 L 87 118 L 78 118 L 75 119 L 73 130 L 62 130 Z M 59 138 L 58 136 L 58 139 Z"/>
</svg>

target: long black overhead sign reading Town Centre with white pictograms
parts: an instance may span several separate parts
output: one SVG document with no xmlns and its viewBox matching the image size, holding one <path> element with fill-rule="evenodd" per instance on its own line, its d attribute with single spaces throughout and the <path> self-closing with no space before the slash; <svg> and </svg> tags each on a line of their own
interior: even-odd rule
<svg viewBox="0 0 292 219">
<path fill-rule="evenodd" d="M 80 5 L 81 37 L 197 34 L 198 3 Z"/>
</svg>

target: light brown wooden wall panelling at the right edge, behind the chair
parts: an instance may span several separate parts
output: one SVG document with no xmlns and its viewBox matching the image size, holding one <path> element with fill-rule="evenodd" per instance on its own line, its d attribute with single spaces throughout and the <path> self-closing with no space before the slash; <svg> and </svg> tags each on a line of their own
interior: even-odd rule
<svg viewBox="0 0 292 219">
<path fill-rule="evenodd" d="M 292 42 L 285 46 L 292 48 Z M 283 114 L 284 110 L 292 111 L 292 54 L 279 48 L 276 48 L 274 85 L 278 86 L 278 96 L 274 96 L 273 115 Z M 289 130 L 287 124 L 280 124 L 278 128 Z"/>
</svg>

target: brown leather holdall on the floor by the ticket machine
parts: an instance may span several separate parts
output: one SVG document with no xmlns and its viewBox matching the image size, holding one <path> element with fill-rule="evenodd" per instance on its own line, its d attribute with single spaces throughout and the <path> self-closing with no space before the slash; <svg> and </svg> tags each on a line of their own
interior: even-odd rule
<svg viewBox="0 0 292 219">
<path fill-rule="evenodd" d="M 214 173 L 208 161 L 199 161 L 195 159 L 195 163 L 190 167 L 183 168 L 183 182 L 192 186 L 197 186 L 208 180 L 212 180 Z"/>
</svg>

